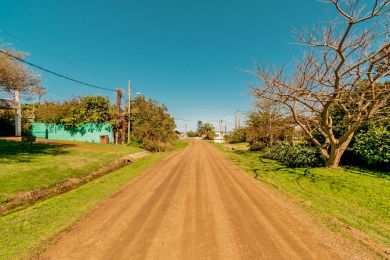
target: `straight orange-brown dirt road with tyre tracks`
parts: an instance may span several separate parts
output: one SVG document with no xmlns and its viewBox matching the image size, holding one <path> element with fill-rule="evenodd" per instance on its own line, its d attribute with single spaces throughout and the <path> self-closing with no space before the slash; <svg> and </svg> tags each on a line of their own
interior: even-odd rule
<svg viewBox="0 0 390 260">
<path fill-rule="evenodd" d="M 49 259 L 337 258 L 211 144 L 192 142 L 63 233 Z"/>
</svg>

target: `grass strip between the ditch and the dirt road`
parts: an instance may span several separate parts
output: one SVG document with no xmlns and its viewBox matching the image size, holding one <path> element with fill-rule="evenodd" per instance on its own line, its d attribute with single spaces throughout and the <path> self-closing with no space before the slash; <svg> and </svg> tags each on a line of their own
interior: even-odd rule
<svg viewBox="0 0 390 260">
<path fill-rule="evenodd" d="M 58 232 L 75 223 L 125 182 L 169 153 L 154 153 L 68 193 L 0 218 L 0 259 L 36 254 Z"/>
</svg>

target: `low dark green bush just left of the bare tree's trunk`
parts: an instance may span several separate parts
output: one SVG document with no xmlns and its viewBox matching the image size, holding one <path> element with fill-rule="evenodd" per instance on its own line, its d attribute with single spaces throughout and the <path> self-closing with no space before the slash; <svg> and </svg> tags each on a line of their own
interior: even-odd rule
<svg viewBox="0 0 390 260">
<path fill-rule="evenodd" d="M 265 158 L 277 160 L 292 168 L 319 167 L 324 165 L 317 148 L 304 144 L 283 142 L 265 149 Z"/>
</svg>

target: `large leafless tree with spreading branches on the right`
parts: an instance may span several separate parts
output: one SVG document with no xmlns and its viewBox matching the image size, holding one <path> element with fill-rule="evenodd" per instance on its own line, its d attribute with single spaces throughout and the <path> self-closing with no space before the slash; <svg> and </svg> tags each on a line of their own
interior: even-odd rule
<svg viewBox="0 0 390 260">
<path fill-rule="evenodd" d="M 308 51 L 289 76 L 285 67 L 257 67 L 253 94 L 284 105 L 337 168 L 355 131 L 374 120 L 390 98 L 389 0 L 324 0 L 337 18 L 312 31 L 296 30 Z M 343 132 L 334 132 L 334 109 L 343 114 Z"/>
</svg>

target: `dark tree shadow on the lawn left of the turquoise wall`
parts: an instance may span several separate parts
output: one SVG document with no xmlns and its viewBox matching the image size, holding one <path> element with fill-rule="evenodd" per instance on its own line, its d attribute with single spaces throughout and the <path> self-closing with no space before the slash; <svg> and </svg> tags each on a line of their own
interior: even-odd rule
<svg viewBox="0 0 390 260">
<path fill-rule="evenodd" d="M 0 140 L 0 164 L 30 162 L 37 155 L 63 155 L 72 144 L 22 143 L 13 140 Z"/>
</svg>

